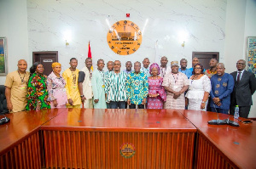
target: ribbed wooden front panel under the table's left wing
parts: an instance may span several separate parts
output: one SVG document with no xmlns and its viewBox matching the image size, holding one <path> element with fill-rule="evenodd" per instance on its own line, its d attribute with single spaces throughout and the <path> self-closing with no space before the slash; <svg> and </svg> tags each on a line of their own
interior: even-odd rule
<svg viewBox="0 0 256 169">
<path fill-rule="evenodd" d="M 38 132 L 0 156 L 0 168 L 37 169 L 41 168 Z"/>
</svg>

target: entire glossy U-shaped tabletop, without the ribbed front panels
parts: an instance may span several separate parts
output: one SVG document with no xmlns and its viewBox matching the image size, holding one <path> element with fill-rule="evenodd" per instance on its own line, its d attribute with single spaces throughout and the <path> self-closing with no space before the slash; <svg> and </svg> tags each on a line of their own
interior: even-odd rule
<svg viewBox="0 0 256 169">
<path fill-rule="evenodd" d="M 256 122 L 240 127 L 209 125 L 213 119 L 234 120 L 232 115 L 195 110 L 90 110 L 55 109 L 7 115 L 0 126 L 0 155 L 32 132 L 43 130 L 87 130 L 126 132 L 196 132 L 206 137 L 230 161 L 241 168 L 256 168 Z M 240 118 L 242 121 L 246 119 Z"/>
</svg>

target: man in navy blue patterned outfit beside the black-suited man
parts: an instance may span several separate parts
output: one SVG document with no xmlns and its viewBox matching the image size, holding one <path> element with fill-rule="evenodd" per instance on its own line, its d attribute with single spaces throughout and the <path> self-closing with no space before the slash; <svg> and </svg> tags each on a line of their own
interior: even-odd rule
<svg viewBox="0 0 256 169">
<path fill-rule="evenodd" d="M 233 91 L 234 79 L 225 73 L 224 64 L 218 63 L 217 74 L 211 78 L 212 91 L 211 95 L 211 109 L 212 112 L 228 114 L 230 110 L 230 94 Z"/>
</svg>

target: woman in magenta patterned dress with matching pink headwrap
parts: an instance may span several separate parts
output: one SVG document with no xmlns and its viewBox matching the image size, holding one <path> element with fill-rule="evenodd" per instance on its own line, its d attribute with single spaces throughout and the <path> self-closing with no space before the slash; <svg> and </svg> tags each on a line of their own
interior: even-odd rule
<svg viewBox="0 0 256 169">
<path fill-rule="evenodd" d="M 156 63 L 150 65 L 148 77 L 148 101 L 147 109 L 163 109 L 166 101 L 166 91 L 162 87 L 163 78 L 160 75 L 160 67 Z"/>
</svg>

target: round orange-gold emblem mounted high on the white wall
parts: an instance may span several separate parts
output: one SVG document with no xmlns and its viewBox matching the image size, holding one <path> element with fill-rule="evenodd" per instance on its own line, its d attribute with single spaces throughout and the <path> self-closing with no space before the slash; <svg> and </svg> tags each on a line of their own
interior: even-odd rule
<svg viewBox="0 0 256 169">
<path fill-rule="evenodd" d="M 143 36 L 136 24 L 129 20 L 120 20 L 111 26 L 107 41 L 114 53 L 128 55 L 140 48 Z"/>
</svg>

